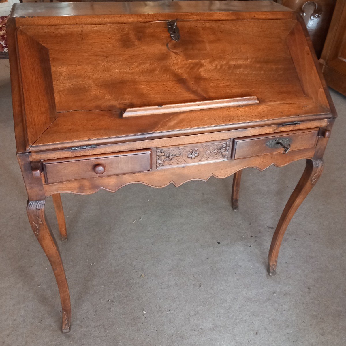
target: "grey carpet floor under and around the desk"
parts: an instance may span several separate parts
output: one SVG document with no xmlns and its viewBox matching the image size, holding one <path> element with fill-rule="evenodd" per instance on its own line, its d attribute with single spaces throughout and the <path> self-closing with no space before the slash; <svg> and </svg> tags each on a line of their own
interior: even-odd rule
<svg viewBox="0 0 346 346">
<path fill-rule="evenodd" d="M 268 249 L 303 161 L 246 169 L 238 212 L 232 177 L 62 195 L 72 301 L 63 335 L 55 278 L 27 220 L 8 66 L 0 60 L 0 345 L 346 344 L 344 96 L 331 90 L 339 117 L 325 170 L 288 227 L 275 277 Z M 51 198 L 46 213 L 57 236 Z"/>
</svg>

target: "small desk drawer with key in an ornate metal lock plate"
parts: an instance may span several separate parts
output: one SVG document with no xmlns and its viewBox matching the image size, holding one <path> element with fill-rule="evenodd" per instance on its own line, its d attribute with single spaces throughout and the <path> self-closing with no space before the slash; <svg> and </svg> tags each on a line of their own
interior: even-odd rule
<svg viewBox="0 0 346 346">
<path fill-rule="evenodd" d="M 316 146 L 318 128 L 234 139 L 232 158 L 284 153 Z M 281 144 L 280 144 L 281 143 Z"/>
</svg>

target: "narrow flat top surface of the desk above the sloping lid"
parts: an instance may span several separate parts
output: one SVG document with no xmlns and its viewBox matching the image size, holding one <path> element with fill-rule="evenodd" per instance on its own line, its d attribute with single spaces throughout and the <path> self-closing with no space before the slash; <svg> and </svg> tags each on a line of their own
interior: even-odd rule
<svg viewBox="0 0 346 346">
<path fill-rule="evenodd" d="M 255 1 L 134 1 L 15 3 L 10 18 L 112 16 L 191 12 L 292 12 L 278 3 Z"/>
</svg>

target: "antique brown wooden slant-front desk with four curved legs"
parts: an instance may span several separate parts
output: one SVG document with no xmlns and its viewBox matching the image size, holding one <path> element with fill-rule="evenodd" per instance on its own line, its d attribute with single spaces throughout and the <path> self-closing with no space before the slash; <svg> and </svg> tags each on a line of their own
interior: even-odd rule
<svg viewBox="0 0 346 346">
<path fill-rule="evenodd" d="M 294 11 L 270 1 L 24 3 L 8 34 L 27 212 L 56 277 L 63 332 L 70 294 L 44 215 L 53 196 L 67 239 L 62 192 L 235 174 L 237 209 L 242 169 L 306 159 L 270 247 L 275 273 L 336 117 Z"/>
</svg>

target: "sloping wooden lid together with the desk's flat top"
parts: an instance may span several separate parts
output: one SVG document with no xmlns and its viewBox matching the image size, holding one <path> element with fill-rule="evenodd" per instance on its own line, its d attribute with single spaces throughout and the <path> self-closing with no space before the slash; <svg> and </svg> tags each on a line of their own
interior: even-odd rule
<svg viewBox="0 0 346 346">
<path fill-rule="evenodd" d="M 24 3 L 9 22 L 26 150 L 333 116 L 301 22 L 271 1 Z M 123 117 L 246 97 L 259 103 Z"/>
</svg>

